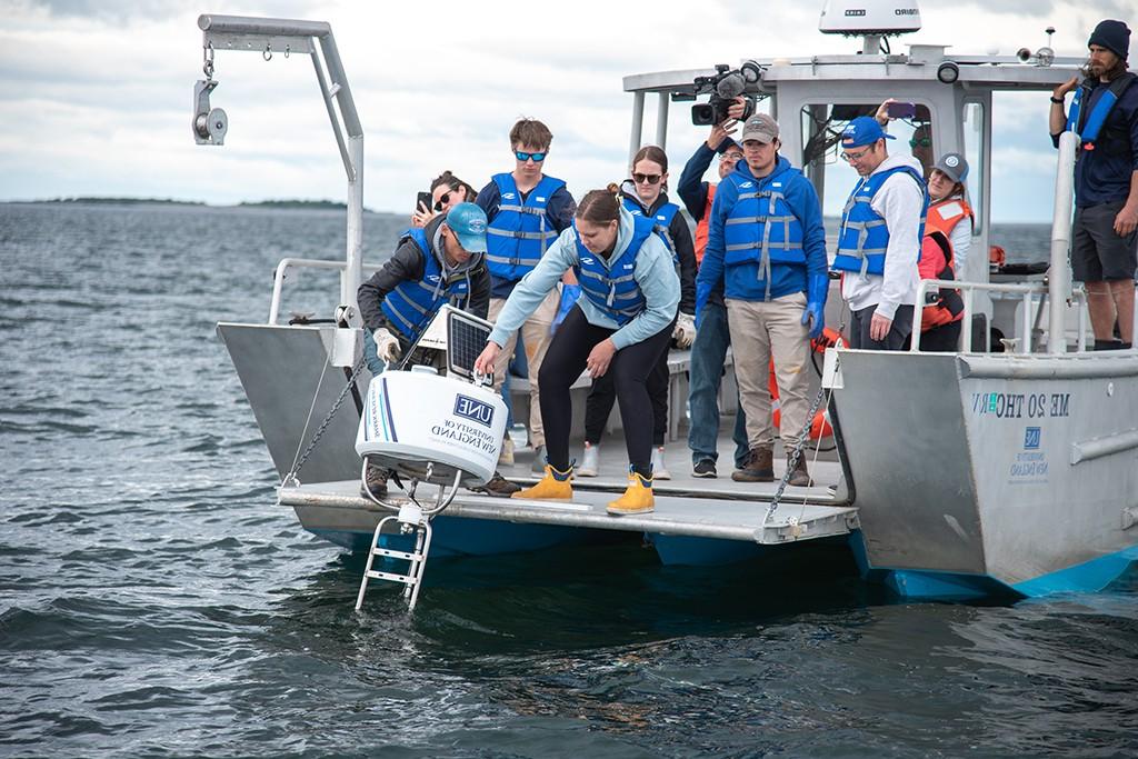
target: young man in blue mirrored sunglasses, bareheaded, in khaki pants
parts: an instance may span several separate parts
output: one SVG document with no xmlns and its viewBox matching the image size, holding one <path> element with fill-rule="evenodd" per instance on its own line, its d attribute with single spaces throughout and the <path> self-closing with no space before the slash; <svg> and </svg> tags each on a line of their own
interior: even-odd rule
<svg viewBox="0 0 1138 759">
<path fill-rule="evenodd" d="M 486 265 L 490 270 L 489 320 L 496 321 L 514 286 L 531 272 L 558 236 L 572 226 L 574 199 L 562 180 L 543 173 L 553 134 L 539 121 L 522 118 L 510 130 L 512 172 L 495 174 L 478 192 L 478 205 L 489 220 Z M 529 368 L 529 442 L 534 468 L 541 470 L 545 432 L 542 428 L 537 374 L 550 346 L 550 328 L 558 313 L 558 292 L 551 290 L 521 325 Z M 494 390 L 502 391 L 517 335 L 511 331 L 494 366 Z M 509 391 L 509 390 L 506 390 Z"/>
</svg>

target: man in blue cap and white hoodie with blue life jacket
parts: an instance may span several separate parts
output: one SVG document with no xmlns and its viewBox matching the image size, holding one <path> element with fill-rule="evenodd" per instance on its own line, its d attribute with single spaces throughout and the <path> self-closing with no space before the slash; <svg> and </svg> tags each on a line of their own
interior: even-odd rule
<svg viewBox="0 0 1138 759">
<path fill-rule="evenodd" d="M 842 158 L 861 176 L 842 212 L 833 263 L 850 307 L 851 348 L 900 350 L 913 331 L 929 196 L 916 158 L 889 155 L 892 139 L 871 116 L 842 131 Z"/>
</svg>

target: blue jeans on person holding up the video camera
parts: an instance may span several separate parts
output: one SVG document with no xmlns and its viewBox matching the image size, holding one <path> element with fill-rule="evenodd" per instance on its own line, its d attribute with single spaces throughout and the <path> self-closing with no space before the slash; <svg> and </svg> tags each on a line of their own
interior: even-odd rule
<svg viewBox="0 0 1138 759">
<path fill-rule="evenodd" d="M 727 307 L 721 303 L 708 303 L 700 315 L 700 328 L 692 344 L 691 370 L 688 372 L 687 404 L 691 426 L 687 429 L 687 447 L 692 449 L 692 463 L 702 459 L 719 459 L 719 383 L 723 380 L 723 363 L 731 345 L 727 330 Z M 735 414 L 735 429 L 731 438 L 735 442 L 735 467 L 742 467 L 747 459 L 747 418 L 742 404 Z"/>
</svg>

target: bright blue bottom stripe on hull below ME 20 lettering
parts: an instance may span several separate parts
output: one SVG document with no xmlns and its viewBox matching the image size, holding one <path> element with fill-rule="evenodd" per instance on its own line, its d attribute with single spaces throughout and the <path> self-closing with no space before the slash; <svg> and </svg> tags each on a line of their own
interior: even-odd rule
<svg viewBox="0 0 1138 759">
<path fill-rule="evenodd" d="M 849 544 L 858 570 L 866 581 L 884 585 L 904 597 L 942 601 L 967 601 L 1006 595 L 1038 597 L 1054 593 L 1097 593 L 1127 572 L 1132 562 L 1138 562 L 1138 546 L 1130 546 L 1075 567 L 1007 585 L 989 575 L 871 567 L 860 531 L 849 535 Z"/>
</svg>

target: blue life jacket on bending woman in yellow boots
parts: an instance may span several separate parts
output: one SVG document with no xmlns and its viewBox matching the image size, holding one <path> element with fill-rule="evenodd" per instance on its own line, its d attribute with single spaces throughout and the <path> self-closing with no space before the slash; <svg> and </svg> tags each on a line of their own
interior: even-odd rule
<svg viewBox="0 0 1138 759">
<path fill-rule="evenodd" d="M 578 263 L 574 266 L 574 272 L 577 274 L 582 292 L 621 327 L 648 307 L 644 294 L 636 282 L 636 256 L 641 246 L 652 234 L 663 240 L 670 249 L 669 240 L 660 233 L 653 218 L 643 215 L 633 216 L 633 239 L 620 257 L 610 261 L 608 266 L 601 256 L 585 247 L 580 241 L 580 234 L 575 234 Z"/>
</svg>

